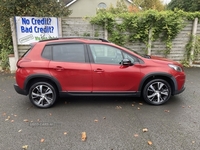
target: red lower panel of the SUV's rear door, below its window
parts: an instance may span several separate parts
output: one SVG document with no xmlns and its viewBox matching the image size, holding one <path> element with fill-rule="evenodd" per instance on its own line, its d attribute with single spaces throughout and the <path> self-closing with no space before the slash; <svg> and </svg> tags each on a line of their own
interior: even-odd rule
<svg viewBox="0 0 200 150">
<path fill-rule="evenodd" d="M 89 63 L 51 61 L 49 71 L 58 79 L 63 91 L 92 91 L 92 70 Z"/>
</svg>

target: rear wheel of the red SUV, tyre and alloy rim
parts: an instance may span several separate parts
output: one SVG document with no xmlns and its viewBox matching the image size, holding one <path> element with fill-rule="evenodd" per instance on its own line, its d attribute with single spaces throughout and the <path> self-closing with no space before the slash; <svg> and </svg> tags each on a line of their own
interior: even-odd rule
<svg viewBox="0 0 200 150">
<path fill-rule="evenodd" d="M 29 90 L 29 99 L 36 107 L 49 108 L 55 104 L 57 92 L 50 83 L 36 82 Z"/>
</svg>

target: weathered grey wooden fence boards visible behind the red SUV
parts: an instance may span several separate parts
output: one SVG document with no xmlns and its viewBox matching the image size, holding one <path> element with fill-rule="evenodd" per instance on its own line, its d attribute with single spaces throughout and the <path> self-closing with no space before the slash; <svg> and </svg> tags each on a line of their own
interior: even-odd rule
<svg viewBox="0 0 200 150">
<path fill-rule="evenodd" d="M 173 40 L 172 49 L 170 54 L 167 55 L 167 58 L 182 61 L 185 54 L 185 46 L 189 42 L 192 33 L 195 35 L 200 35 L 200 24 L 197 22 L 197 26 L 194 29 L 195 21 L 185 22 L 185 27 Z M 107 38 L 107 31 L 103 27 L 97 25 L 91 25 L 88 20 L 83 18 L 62 18 L 59 22 L 61 27 L 61 36 L 92 36 L 92 37 L 101 37 Z M 193 32 L 196 30 L 195 32 Z M 127 43 L 127 47 L 134 49 L 136 51 L 144 51 L 145 45 L 143 43 Z M 18 45 L 17 51 L 19 57 L 29 48 L 29 45 Z M 164 56 L 164 50 L 166 49 L 165 44 L 161 41 L 152 42 L 151 54 L 157 56 Z M 192 65 L 200 62 L 200 56 L 192 62 Z"/>
</svg>

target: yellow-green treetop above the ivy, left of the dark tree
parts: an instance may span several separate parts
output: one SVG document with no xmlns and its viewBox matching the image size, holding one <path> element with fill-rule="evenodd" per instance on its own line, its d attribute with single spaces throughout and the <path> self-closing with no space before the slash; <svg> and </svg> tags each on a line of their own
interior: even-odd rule
<svg viewBox="0 0 200 150">
<path fill-rule="evenodd" d="M 134 4 L 142 10 L 155 9 L 162 11 L 165 9 L 165 6 L 160 0 L 134 0 Z"/>
</svg>

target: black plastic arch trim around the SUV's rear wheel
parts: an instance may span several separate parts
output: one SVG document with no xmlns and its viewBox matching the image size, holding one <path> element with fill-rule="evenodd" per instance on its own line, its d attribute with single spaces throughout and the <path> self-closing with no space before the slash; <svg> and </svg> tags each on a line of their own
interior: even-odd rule
<svg viewBox="0 0 200 150">
<path fill-rule="evenodd" d="M 27 85 L 28 85 L 29 81 L 32 79 L 36 79 L 36 78 L 46 78 L 48 80 L 51 80 L 53 83 L 55 83 L 56 87 L 58 88 L 58 91 L 62 91 L 61 85 L 58 82 L 58 80 L 48 74 L 32 74 L 32 75 L 28 76 L 24 82 L 24 90 L 26 90 L 28 92 Z"/>
</svg>

